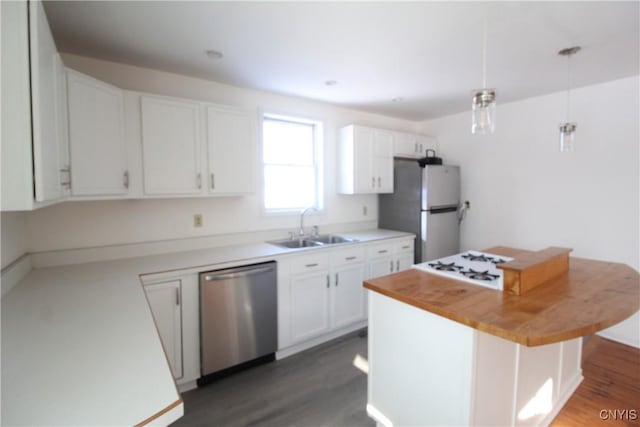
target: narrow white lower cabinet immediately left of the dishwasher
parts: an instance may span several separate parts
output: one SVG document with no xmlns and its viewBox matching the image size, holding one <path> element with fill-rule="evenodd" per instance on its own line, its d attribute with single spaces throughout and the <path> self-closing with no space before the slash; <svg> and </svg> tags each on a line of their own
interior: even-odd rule
<svg viewBox="0 0 640 427">
<path fill-rule="evenodd" d="M 198 274 L 143 278 L 144 291 L 173 377 L 180 387 L 195 387 L 200 377 Z"/>
</svg>

